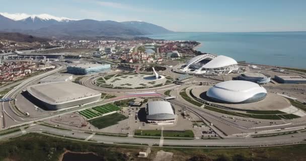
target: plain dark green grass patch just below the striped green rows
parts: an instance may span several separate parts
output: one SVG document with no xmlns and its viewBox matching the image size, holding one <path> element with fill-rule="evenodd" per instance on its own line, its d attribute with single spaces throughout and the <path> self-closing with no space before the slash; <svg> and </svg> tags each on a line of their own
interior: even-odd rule
<svg viewBox="0 0 306 161">
<path fill-rule="evenodd" d="M 98 117 L 98 118 L 89 120 L 89 122 L 95 127 L 97 127 L 98 129 L 103 129 L 108 126 L 118 124 L 119 121 L 125 120 L 127 118 L 128 117 L 125 117 L 124 115 L 121 115 L 119 113 L 114 113 L 111 115 Z"/>
</svg>

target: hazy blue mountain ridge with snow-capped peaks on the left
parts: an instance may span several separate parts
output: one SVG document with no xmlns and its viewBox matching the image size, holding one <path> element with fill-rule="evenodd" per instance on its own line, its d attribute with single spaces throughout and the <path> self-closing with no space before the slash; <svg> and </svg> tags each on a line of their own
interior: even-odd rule
<svg viewBox="0 0 306 161">
<path fill-rule="evenodd" d="M 19 18 L 17 18 L 19 19 Z M 97 21 L 61 19 L 45 14 L 12 20 L 0 14 L 0 32 L 20 32 L 40 37 L 141 36 L 172 33 L 164 27 L 139 21 Z"/>
</svg>

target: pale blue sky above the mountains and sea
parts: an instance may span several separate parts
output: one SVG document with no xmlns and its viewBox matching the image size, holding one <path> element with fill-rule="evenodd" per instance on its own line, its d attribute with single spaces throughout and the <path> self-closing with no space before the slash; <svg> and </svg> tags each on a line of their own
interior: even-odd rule
<svg viewBox="0 0 306 161">
<path fill-rule="evenodd" d="M 144 21 L 182 32 L 306 31 L 306 1 L 0 0 L 0 12 Z"/>
</svg>

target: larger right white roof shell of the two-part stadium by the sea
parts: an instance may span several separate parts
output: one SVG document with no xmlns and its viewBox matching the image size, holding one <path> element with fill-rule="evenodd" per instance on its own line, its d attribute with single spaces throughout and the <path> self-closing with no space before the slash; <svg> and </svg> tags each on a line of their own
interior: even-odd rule
<svg viewBox="0 0 306 161">
<path fill-rule="evenodd" d="M 202 68 L 220 68 L 233 64 L 237 64 L 237 61 L 231 57 L 220 55 L 203 65 Z"/>
</svg>

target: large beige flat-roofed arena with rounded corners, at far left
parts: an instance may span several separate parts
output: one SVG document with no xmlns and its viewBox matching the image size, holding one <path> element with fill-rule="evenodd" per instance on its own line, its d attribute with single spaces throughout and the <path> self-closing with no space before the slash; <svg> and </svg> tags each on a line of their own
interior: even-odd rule
<svg viewBox="0 0 306 161">
<path fill-rule="evenodd" d="M 78 106 L 101 98 L 101 93 L 71 82 L 51 82 L 27 87 L 30 96 L 50 110 Z"/>
</svg>

